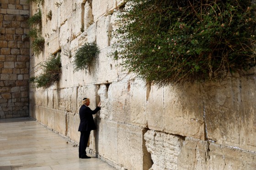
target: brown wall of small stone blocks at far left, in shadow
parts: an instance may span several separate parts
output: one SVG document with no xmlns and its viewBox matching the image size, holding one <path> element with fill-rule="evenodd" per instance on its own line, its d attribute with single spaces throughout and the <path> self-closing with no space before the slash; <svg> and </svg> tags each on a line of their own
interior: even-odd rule
<svg viewBox="0 0 256 170">
<path fill-rule="evenodd" d="M 0 0 L 0 118 L 28 116 L 28 15 L 26 0 Z"/>
</svg>

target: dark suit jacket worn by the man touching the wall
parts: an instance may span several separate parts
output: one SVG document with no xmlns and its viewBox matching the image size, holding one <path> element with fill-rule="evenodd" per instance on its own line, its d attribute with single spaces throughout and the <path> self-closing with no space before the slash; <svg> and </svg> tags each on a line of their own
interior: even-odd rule
<svg viewBox="0 0 256 170">
<path fill-rule="evenodd" d="M 79 116 L 80 116 L 80 125 L 78 128 L 78 131 L 89 131 L 89 130 L 95 130 L 96 125 L 94 123 L 94 119 L 92 117 L 93 114 L 96 114 L 101 108 L 96 107 L 95 110 L 91 110 L 91 108 L 82 105 L 79 110 Z"/>
</svg>

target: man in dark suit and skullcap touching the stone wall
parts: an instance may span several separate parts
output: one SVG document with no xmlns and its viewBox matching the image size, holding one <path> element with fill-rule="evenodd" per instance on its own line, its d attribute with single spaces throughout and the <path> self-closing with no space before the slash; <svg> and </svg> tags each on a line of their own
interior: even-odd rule
<svg viewBox="0 0 256 170">
<path fill-rule="evenodd" d="M 78 131 L 80 131 L 81 133 L 79 142 L 79 158 L 82 159 L 91 158 L 86 155 L 85 149 L 88 143 L 91 130 L 96 129 L 96 125 L 94 123 L 92 115 L 96 114 L 101 109 L 101 102 L 98 104 L 95 110 L 91 110 L 91 108 L 88 107 L 89 105 L 90 99 L 84 98 L 82 101 L 82 106 L 79 110 L 80 124 Z"/>
</svg>

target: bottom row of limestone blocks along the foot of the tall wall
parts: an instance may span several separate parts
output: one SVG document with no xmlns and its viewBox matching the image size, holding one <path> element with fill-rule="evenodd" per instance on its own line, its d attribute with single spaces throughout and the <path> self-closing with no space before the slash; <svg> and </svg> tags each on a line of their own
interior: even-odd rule
<svg viewBox="0 0 256 170">
<path fill-rule="evenodd" d="M 79 114 L 30 105 L 32 117 L 79 142 Z M 255 152 L 95 118 L 90 151 L 117 169 L 253 170 Z"/>
</svg>

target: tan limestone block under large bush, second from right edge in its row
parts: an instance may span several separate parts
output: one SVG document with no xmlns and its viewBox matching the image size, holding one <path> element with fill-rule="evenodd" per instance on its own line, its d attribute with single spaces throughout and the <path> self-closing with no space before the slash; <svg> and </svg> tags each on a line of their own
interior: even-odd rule
<svg viewBox="0 0 256 170">
<path fill-rule="evenodd" d="M 208 139 L 219 144 L 239 144 L 239 114 L 241 101 L 237 98 L 239 81 L 227 78 L 222 82 L 203 84 L 204 116 Z"/>
</svg>

